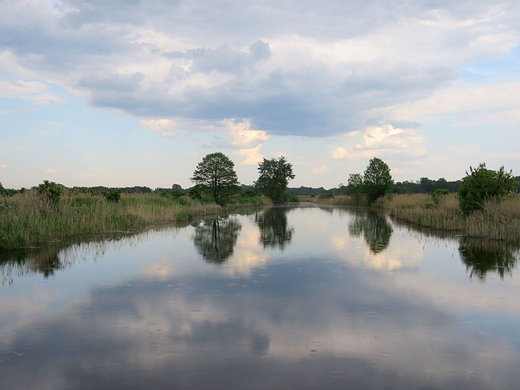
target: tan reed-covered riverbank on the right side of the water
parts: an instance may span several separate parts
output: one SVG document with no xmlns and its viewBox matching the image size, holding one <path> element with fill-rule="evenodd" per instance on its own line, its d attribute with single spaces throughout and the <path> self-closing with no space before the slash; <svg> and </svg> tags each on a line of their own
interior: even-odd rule
<svg viewBox="0 0 520 390">
<path fill-rule="evenodd" d="M 348 196 L 305 198 L 305 201 L 341 206 L 364 205 Z M 417 226 L 520 244 L 518 194 L 500 202 L 487 202 L 483 211 L 475 211 L 469 216 L 462 213 L 456 194 L 439 196 L 437 199 L 428 194 L 390 195 L 379 199 L 372 207 L 384 210 L 394 219 Z"/>
</svg>

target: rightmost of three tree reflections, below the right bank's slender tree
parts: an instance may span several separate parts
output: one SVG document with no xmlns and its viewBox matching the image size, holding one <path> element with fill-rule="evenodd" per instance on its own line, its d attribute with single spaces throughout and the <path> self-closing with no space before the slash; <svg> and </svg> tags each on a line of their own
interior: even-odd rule
<svg viewBox="0 0 520 390">
<path fill-rule="evenodd" d="M 392 226 L 386 217 L 373 211 L 356 213 L 349 224 L 348 231 L 354 237 L 360 237 L 363 234 L 372 253 L 384 251 L 388 247 L 393 233 Z"/>
</svg>

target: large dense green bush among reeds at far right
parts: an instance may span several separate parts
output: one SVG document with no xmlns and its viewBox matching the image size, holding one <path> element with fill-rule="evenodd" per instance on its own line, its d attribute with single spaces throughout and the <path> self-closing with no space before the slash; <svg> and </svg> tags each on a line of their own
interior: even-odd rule
<svg viewBox="0 0 520 390">
<path fill-rule="evenodd" d="M 465 214 L 474 210 L 483 210 L 484 202 L 512 193 L 516 189 L 516 180 L 512 172 L 506 172 L 504 167 L 498 171 L 486 168 L 482 163 L 477 168 L 469 168 L 466 177 L 462 179 L 459 189 L 459 205 Z"/>
</svg>

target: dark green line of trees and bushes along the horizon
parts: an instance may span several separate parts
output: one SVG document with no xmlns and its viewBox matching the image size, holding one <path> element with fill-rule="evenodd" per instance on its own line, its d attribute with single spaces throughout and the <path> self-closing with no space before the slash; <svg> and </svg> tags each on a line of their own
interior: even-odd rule
<svg viewBox="0 0 520 390">
<path fill-rule="evenodd" d="M 206 155 L 197 164 L 190 180 L 194 186 L 183 189 L 179 184 L 173 184 L 171 188 L 156 188 L 152 190 L 145 186 L 110 188 L 104 186 L 96 187 L 73 187 L 73 191 L 80 193 L 102 194 L 107 200 L 118 202 L 121 193 L 161 193 L 170 194 L 175 197 L 189 195 L 192 198 L 213 201 L 219 205 L 227 204 L 231 198 L 237 195 L 257 196 L 259 194 L 270 198 L 273 203 L 298 201 L 298 195 L 306 196 L 335 196 L 350 195 L 357 203 L 362 199 L 368 204 L 386 194 L 444 194 L 458 193 L 459 197 L 472 198 L 464 203 L 461 200 L 461 208 L 478 208 L 485 199 L 494 196 L 503 196 L 509 192 L 520 192 L 520 176 L 514 177 L 512 172 L 506 172 L 504 168 L 492 171 L 485 164 L 467 173 L 461 180 L 447 181 L 444 178 L 431 180 L 422 177 L 416 182 L 403 181 L 395 183 L 388 165 L 381 159 L 374 157 L 367 165 L 366 170 L 361 173 L 353 173 L 348 177 L 348 184 L 341 183 L 337 188 L 326 190 L 323 187 L 299 187 L 288 188 L 289 180 L 294 179 L 292 164 L 284 156 L 279 158 L 263 159 L 258 164 L 258 179 L 253 185 L 240 184 L 234 169 L 234 163 L 221 152 Z M 477 189 L 478 187 L 478 189 Z M 34 187 L 39 193 L 47 196 L 59 197 L 63 185 L 44 181 L 39 187 Z M 10 196 L 20 190 L 6 189 L 0 183 L 0 195 Z M 50 195 L 49 195 L 50 194 Z M 472 206 L 468 206 L 472 204 Z"/>
</svg>

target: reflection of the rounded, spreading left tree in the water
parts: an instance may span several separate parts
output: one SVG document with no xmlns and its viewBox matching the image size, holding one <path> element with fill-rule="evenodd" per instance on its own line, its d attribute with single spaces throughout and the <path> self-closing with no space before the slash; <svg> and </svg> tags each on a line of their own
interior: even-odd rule
<svg viewBox="0 0 520 390">
<path fill-rule="evenodd" d="M 195 227 L 193 243 L 208 263 L 223 263 L 233 254 L 242 225 L 235 218 L 203 221 Z"/>
</svg>

